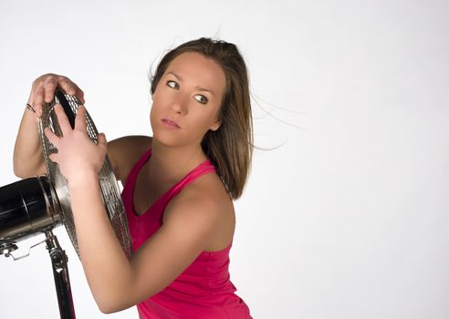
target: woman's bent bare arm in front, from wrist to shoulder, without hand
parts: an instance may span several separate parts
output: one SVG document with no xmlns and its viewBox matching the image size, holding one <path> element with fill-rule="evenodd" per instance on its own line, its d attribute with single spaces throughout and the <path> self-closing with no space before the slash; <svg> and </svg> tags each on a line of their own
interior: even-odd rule
<svg viewBox="0 0 449 319">
<path fill-rule="evenodd" d="M 127 309 L 162 291 L 204 251 L 220 227 L 216 202 L 179 194 L 182 197 L 167 211 L 159 231 L 128 261 L 100 196 L 95 174 L 70 186 L 81 262 L 99 310 L 105 314 Z"/>
</svg>

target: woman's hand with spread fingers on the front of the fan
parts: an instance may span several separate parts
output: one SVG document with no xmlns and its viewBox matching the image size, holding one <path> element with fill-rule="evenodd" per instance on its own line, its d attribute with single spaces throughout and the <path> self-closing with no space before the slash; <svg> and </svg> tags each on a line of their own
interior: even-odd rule
<svg viewBox="0 0 449 319">
<path fill-rule="evenodd" d="M 77 185 L 92 176 L 98 178 L 107 153 L 106 137 L 103 133 L 99 134 L 97 144 L 89 139 L 84 106 L 78 108 L 75 129 L 71 128 L 60 104 L 55 106 L 55 112 L 63 137 L 57 137 L 49 128 L 44 130 L 47 139 L 57 148 L 57 153 L 50 154 L 49 159 L 57 162 L 69 186 Z"/>
</svg>

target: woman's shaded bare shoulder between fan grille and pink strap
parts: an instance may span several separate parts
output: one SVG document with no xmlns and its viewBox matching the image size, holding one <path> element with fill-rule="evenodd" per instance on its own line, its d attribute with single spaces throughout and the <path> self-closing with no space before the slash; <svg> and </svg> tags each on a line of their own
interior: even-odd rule
<svg viewBox="0 0 449 319">
<path fill-rule="evenodd" d="M 126 180 L 134 164 L 151 148 L 151 137 L 124 136 L 108 142 L 108 157 L 117 180 Z"/>
</svg>

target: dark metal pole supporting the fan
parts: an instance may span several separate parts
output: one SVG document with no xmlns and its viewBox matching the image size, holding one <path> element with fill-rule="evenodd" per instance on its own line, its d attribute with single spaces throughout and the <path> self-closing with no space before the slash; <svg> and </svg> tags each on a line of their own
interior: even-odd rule
<svg viewBox="0 0 449 319">
<path fill-rule="evenodd" d="M 47 250 L 53 266 L 53 277 L 57 290 L 57 303 L 61 319 L 75 319 L 70 279 L 68 278 L 68 258 L 57 242 L 57 237 L 51 230 L 45 231 L 47 236 Z"/>
</svg>

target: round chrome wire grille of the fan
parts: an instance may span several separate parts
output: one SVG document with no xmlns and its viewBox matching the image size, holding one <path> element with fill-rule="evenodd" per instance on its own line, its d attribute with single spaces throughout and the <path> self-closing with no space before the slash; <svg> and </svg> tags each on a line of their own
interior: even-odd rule
<svg viewBox="0 0 449 319">
<path fill-rule="evenodd" d="M 68 96 L 62 91 L 58 91 L 56 97 L 52 102 L 47 103 L 42 109 L 42 117 L 39 121 L 39 133 L 43 146 L 44 160 L 47 167 L 47 176 L 57 193 L 58 202 L 54 202 L 54 205 L 58 205 L 62 214 L 63 223 L 67 229 L 68 237 L 70 238 L 75 251 L 78 253 L 78 241 L 77 232 L 75 229 L 75 222 L 73 221 L 73 214 L 70 206 L 70 194 L 68 191 L 68 181 L 62 175 L 57 163 L 49 160 L 49 155 L 56 152 L 56 148 L 49 142 L 44 134 L 45 128 L 50 128 L 58 137 L 62 136 L 62 131 L 57 122 L 57 115 L 54 111 L 54 107 L 57 103 L 62 104 L 66 113 L 68 108 L 73 114 L 77 114 L 78 106 L 81 104 L 76 97 Z M 69 115 L 68 115 L 69 116 Z M 87 130 L 89 138 L 97 143 L 98 130 L 96 129 L 92 118 L 86 111 Z M 110 165 L 110 160 L 106 156 L 101 170 L 99 170 L 99 185 L 102 193 L 103 205 L 108 212 L 110 223 L 114 232 L 119 239 L 120 245 L 127 255 L 131 258 L 131 241 L 130 233 L 128 231 L 128 222 L 126 220 L 126 214 L 123 206 L 123 202 L 120 198 L 119 185 L 117 179 L 113 173 Z"/>
</svg>

